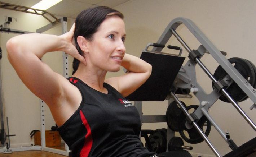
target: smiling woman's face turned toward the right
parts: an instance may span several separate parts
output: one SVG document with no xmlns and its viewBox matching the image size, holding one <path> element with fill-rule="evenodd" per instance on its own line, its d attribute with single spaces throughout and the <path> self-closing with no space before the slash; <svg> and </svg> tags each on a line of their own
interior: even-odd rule
<svg viewBox="0 0 256 157">
<path fill-rule="evenodd" d="M 124 40 L 123 20 L 115 15 L 106 18 L 88 43 L 89 61 L 97 68 L 119 71 L 125 54 Z"/>
</svg>

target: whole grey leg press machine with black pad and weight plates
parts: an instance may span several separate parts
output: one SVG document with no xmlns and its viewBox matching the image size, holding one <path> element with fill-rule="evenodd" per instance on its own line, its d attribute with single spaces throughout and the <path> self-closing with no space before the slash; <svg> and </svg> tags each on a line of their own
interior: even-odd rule
<svg viewBox="0 0 256 157">
<path fill-rule="evenodd" d="M 181 24 L 184 24 L 195 38 L 197 38 L 200 44 L 202 44 L 198 49 L 190 49 L 190 47 L 176 32 L 177 27 Z M 181 57 L 182 49 L 180 47 L 168 45 L 169 49 L 180 50 L 178 55 L 165 54 L 161 52 L 172 35 L 175 36 L 175 38 L 189 53 L 189 60 L 184 66 L 182 66 L 184 57 Z M 149 46 L 153 46 L 151 51 L 148 50 Z M 206 53 L 210 54 L 217 63 L 219 63 L 219 67 L 216 69 L 214 74 L 211 74 L 206 66 L 200 61 Z M 157 56 L 156 54 L 162 56 L 162 59 L 157 59 L 155 57 Z M 253 138 L 238 147 L 233 140 L 230 139 L 229 133 L 224 133 L 208 113 L 209 108 L 218 99 L 224 102 L 230 102 L 252 127 L 252 129 L 256 131 L 256 125 L 238 105 L 238 102 L 250 98 L 253 102 L 250 109 L 252 110 L 253 108 L 256 108 L 256 68 L 248 60 L 240 58 L 226 59 L 225 55 L 226 52 L 219 51 L 190 19 L 175 18 L 168 24 L 157 43 L 149 43 L 142 52 L 141 59 L 152 65 L 152 74 L 147 82 L 137 89 L 137 91 L 128 96 L 127 99 L 129 101 L 134 101 L 134 106 L 137 107 L 140 113 L 142 123 L 167 122 L 167 142 L 170 141 L 169 145 L 170 143 L 176 143 L 177 147 L 182 147 L 183 143 L 180 142 L 180 139 L 173 139 L 176 138 L 174 137 L 174 132 L 178 131 L 186 142 L 194 144 L 205 141 L 213 153 L 217 157 L 221 157 L 220 153 L 207 138 L 209 131 L 211 130 L 211 126 L 214 126 L 232 150 L 230 153 L 226 154 L 225 157 L 238 157 L 252 154 L 255 152 L 256 138 Z M 154 57 L 154 60 L 148 59 L 150 56 Z M 165 60 L 163 60 L 163 58 L 167 58 L 167 56 L 170 58 L 167 59 L 168 62 L 172 62 L 173 65 L 168 62 L 164 63 Z M 158 64 L 162 65 L 162 69 Z M 232 64 L 235 65 L 233 66 Z M 212 81 L 213 91 L 209 94 L 203 90 L 196 80 L 196 65 L 199 65 Z M 171 72 L 171 68 L 176 70 L 178 69 L 178 71 Z M 163 75 L 161 76 L 159 73 L 155 73 L 155 71 L 158 70 L 160 70 L 159 73 L 164 72 L 164 77 L 168 77 L 167 79 L 169 80 L 166 81 L 166 78 L 163 78 Z M 170 73 L 171 76 L 169 76 Z M 154 84 L 159 85 L 160 88 L 155 87 Z M 186 106 L 184 102 L 178 99 L 191 98 L 190 92 L 197 97 L 200 105 Z M 143 93 L 146 93 L 146 95 Z M 164 99 L 168 100 L 169 103 L 166 115 L 142 115 L 142 101 L 163 101 Z M 191 113 L 189 110 L 193 110 L 193 112 Z M 203 131 L 203 126 L 206 126 L 206 131 Z M 184 131 L 187 131 L 189 138 L 186 137 Z M 146 132 L 149 133 L 150 131 L 146 130 Z M 145 133 L 142 135 L 145 137 Z M 153 140 L 158 140 L 156 145 L 159 145 L 159 137 L 153 138 Z M 153 144 L 154 142 L 156 141 L 151 141 Z M 168 147 L 167 144 L 164 146 Z M 171 151 L 170 149 L 173 150 L 177 148 L 176 146 L 169 146 L 169 151 Z M 188 149 L 190 148 L 191 147 L 188 147 Z"/>
</svg>

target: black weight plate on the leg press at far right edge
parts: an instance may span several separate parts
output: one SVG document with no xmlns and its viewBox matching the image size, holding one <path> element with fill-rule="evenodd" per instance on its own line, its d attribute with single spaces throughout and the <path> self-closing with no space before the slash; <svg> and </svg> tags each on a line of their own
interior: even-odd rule
<svg viewBox="0 0 256 157">
<path fill-rule="evenodd" d="M 236 57 L 230 58 L 228 61 L 234 65 L 234 68 L 237 69 L 237 71 L 244 77 L 244 79 L 247 80 L 248 83 L 251 85 L 255 84 L 255 71 L 253 66 L 248 63 L 248 61 Z M 213 74 L 216 80 L 223 79 L 227 75 L 228 74 L 226 71 L 220 65 L 217 67 L 215 73 Z M 212 83 L 212 87 L 213 85 L 214 83 Z M 236 102 L 241 102 L 247 98 L 247 95 L 235 82 L 231 83 L 230 86 L 226 88 L 226 91 Z M 229 102 L 229 100 L 224 95 L 221 95 L 219 99 L 224 102 Z"/>
</svg>

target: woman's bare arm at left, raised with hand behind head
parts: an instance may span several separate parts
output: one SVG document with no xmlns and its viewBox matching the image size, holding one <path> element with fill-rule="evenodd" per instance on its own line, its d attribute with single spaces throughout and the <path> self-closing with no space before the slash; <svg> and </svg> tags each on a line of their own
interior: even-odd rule
<svg viewBox="0 0 256 157">
<path fill-rule="evenodd" d="M 74 26 L 61 36 L 24 34 L 11 38 L 6 44 L 8 59 L 22 82 L 48 105 L 59 103 L 65 94 L 63 87 L 67 80 L 40 58 L 47 52 L 65 51 L 82 60 L 83 57 L 71 43 L 73 31 Z"/>
</svg>

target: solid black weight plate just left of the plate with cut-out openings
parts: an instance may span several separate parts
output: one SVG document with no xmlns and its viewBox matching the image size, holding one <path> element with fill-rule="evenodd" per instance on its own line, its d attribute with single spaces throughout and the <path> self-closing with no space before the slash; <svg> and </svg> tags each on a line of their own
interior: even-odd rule
<svg viewBox="0 0 256 157">
<path fill-rule="evenodd" d="M 181 101 L 181 103 L 186 107 L 184 102 Z M 176 101 L 171 102 L 166 110 L 166 123 L 173 131 L 180 131 L 180 114 L 182 114 L 182 110 L 178 107 Z"/>
</svg>

